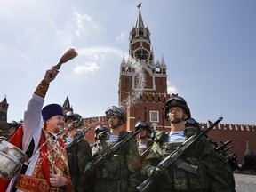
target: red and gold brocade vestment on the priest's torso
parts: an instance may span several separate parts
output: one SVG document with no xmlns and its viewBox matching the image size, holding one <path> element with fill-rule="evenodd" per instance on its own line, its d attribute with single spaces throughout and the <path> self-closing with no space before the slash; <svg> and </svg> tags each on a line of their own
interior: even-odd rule
<svg viewBox="0 0 256 192">
<path fill-rule="evenodd" d="M 20 130 L 22 132 L 22 129 Z M 22 138 L 22 137 L 21 137 Z M 20 140 L 21 143 L 21 140 Z M 16 143 L 17 144 L 17 143 Z M 20 175 L 16 188 L 23 191 L 53 192 L 59 188 L 51 186 L 50 173 L 59 173 L 67 178 L 66 191 L 70 191 L 71 181 L 68 171 L 68 157 L 65 148 L 52 140 L 48 132 L 42 131 L 40 138 L 40 156 L 35 164 L 32 176 Z M 21 145 L 17 145 L 20 147 Z M 61 147 L 60 147 L 61 146 Z M 58 172 L 56 172 L 58 171 Z M 7 183 L 8 184 L 8 183 Z M 6 184 L 5 184 L 6 185 Z M 3 191 L 5 189 L 3 188 Z M 2 190 L 1 190 L 2 191 Z"/>
</svg>

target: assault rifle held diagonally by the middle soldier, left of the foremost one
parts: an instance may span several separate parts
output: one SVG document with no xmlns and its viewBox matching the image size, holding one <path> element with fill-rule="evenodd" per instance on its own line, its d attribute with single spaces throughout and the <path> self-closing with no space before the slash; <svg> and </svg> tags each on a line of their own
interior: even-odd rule
<svg viewBox="0 0 256 192">
<path fill-rule="evenodd" d="M 97 169 L 99 169 L 101 164 L 104 164 L 110 172 L 116 172 L 116 167 L 114 167 L 112 164 L 108 162 L 108 159 L 111 156 L 114 156 L 116 154 L 116 151 L 123 148 L 126 143 L 128 143 L 130 140 L 132 140 L 136 135 L 138 135 L 141 132 L 141 129 L 134 132 L 130 137 L 126 137 L 124 140 L 121 140 L 117 142 L 112 148 L 108 150 L 103 156 L 100 156 L 97 161 L 95 161 L 92 166 L 85 171 L 86 177 L 90 177 L 93 172 L 95 172 Z"/>
</svg>

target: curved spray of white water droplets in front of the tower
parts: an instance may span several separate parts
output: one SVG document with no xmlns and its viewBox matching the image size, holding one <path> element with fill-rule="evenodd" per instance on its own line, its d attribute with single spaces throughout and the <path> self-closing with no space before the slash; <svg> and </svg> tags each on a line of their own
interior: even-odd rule
<svg viewBox="0 0 256 192">
<path fill-rule="evenodd" d="M 131 94 L 122 101 L 120 108 L 124 109 L 128 104 L 132 108 L 140 100 L 140 95 L 142 95 L 145 87 L 145 74 L 142 68 L 142 65 L 139 61 L 130 59 L 128 61 L 128 67 L 131 68 L 132 78 L 134 80 L 134 87 Z"/>
</svg>

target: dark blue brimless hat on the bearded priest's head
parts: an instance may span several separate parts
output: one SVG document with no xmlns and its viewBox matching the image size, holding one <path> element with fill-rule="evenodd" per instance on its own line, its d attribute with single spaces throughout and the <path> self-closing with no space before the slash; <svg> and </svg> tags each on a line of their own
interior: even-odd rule
<svg viewBox="0 0 256 192">
<path fill-rule="evenodd" d="M 52 116 L 64 116 L 63 109 L 58 104 L 50 104 L 42 109 L 44 122 L 52 118 Z"/>
</svg>

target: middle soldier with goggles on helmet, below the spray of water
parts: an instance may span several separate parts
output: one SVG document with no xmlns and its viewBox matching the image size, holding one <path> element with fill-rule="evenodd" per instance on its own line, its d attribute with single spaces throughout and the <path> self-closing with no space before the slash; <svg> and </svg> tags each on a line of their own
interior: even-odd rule
<svg viewBox="0 0 256 192">
<path fill-rule="evenodd" d="M 112 106 L 105 112 L 110 132 L 103 140 L 97 140 L 92 148 L 93 159 L 104 155 L 116 142 L 130 137 L 130 133 L 122 131 L 121 125 L 126 123 L 126 116 L 123 110 Z M 135 140 L 130 140 L 124 148 L 108 159 L 112 170 L 103 164 L 95 175 L 94 192 L 132 192 L 137 191 L 140 184 L 140 158 Z M 113 169 L 114 168 L 114 169 Z"/>
</svg>

